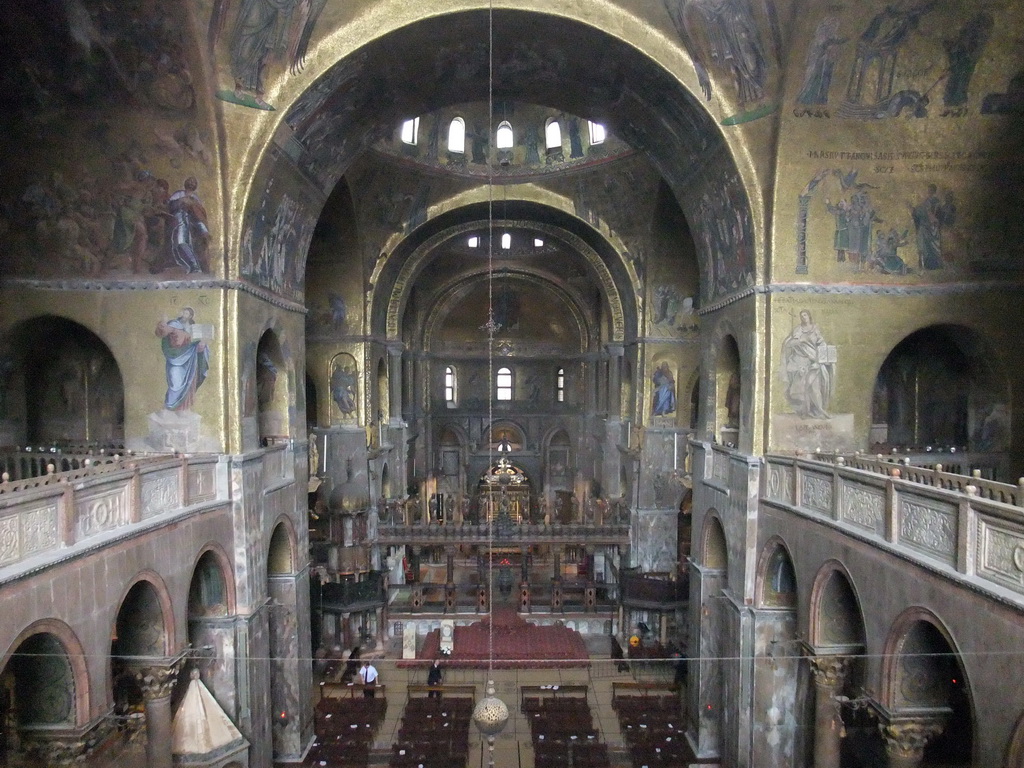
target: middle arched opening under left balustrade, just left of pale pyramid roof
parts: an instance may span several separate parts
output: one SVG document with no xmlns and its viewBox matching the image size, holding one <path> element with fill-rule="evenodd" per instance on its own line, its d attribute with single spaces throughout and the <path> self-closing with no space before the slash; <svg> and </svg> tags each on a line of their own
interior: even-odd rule
<svg viewBox="0 0 1024 768">
<path fill-rule="evenodd" d="M 111 636 L 111 691 L 120 716 L 142 711 L 142 691 L 135 679 L 140 667 L 167 656 L 173 636 L 170 600 L 161 584 L 139 579 L 121 601 Z"/>
</svg>

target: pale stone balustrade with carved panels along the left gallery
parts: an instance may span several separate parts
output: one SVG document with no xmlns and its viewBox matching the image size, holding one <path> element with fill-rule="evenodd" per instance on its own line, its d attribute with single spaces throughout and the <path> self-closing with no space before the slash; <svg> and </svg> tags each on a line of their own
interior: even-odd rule
<svg viewBox="0 0 1024 768">
<path fill-rule="evenodd" d="M 227 499 L 216 456 L 102 461 L 63 472 L 50 462 L 47 474 L 0 481 L 0 578 L 119 529 Z"/>
</svg>

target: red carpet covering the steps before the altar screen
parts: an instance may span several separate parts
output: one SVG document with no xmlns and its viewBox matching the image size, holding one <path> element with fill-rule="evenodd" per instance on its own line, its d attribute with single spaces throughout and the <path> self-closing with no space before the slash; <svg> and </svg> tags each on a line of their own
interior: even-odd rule
<svg viewBox="0 0 1024 768">
<path fill-rule="evenodd" d="M 539 627 L 524 622 L 512 608 L 495 606 L 490 617 L 469 627 L 455 628 L 455 652 L 444 659 L 444 665 L 486 668 L 492 621 L 495 627 L 495 669 L 586 667 L 590 664 L 587 645 L 575 630 Z M 424 639 L 417 660 L 407 660 L 403 666 L 421 666 L 438 657 L 443 658 L 440 655 L 440 631 L 434 630 Z"/>
</svg>

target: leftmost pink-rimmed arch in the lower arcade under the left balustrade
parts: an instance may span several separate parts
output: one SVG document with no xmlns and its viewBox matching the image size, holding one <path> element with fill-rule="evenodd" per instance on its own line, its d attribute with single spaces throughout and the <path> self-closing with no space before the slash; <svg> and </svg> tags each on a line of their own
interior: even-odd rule
<svg viewBox="0 0 1024 768">
<path fill-rule="evenodd" d="M 26 643 L 30 643 L 28 648 L 25 648 Z M 45 665 L 45 669 L 34 669 L 36 662 Z M 43 680 L 49 685 L 44 686 Z M 13 686 L 15 715 L 19 709 L 19 694 L 26 694 L 30 701 L 35 701 L 37 696 L 51 699 L 39 701 L 43 709 L 40 714 L 59 716 L 60 719 L 51 720 L 50 724 L 77 726 L 89 720 L 91 691 L 85 649 L 74 630 L 63 622 L 43 618 L 26 627 L 0 659 L 0 681 L 4 685 L 10 681 Z M 19 685 L 24 686 L 20 690 Z M 69 685 L 70 693 L 67 691 Z M 60 695 L 61 686 L 68 695 Z M 32 717 L 31 710 L 29 717 Z"/>
</svg>

